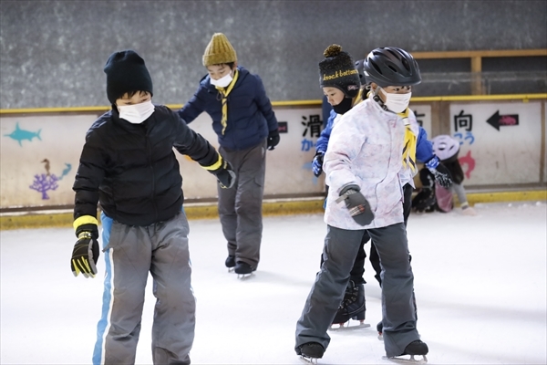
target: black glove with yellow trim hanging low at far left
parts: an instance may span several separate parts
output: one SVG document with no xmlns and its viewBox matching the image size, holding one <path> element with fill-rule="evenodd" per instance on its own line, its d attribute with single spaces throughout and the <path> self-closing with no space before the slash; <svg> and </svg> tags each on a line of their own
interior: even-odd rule
<svg viewBox="0 0 547 365">
<path fill-rule="evenodd" d="M 70 268 L 72 274 L 85 277 L 95 277 L 97 274 L 98 250 L 98 222 L 95 217 L 83 215 L 74 221 L 77 243 L 72 250 Z"/>
</svg>

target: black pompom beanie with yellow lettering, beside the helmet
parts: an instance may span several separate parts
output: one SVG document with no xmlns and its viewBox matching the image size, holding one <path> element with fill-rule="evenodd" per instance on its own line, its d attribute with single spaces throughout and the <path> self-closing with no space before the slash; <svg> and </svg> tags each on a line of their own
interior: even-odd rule
<svg viewBox="0 0 547 365">
<path fill-rule="evenodd" d="M 342 47 L 331 45 L 323 53 L 325 59 L 319 62 L 319 84 L 321 88 L 341 89 L 346 98 L 355 98 L 361 87 L 356 64 Z"/>
</svg>

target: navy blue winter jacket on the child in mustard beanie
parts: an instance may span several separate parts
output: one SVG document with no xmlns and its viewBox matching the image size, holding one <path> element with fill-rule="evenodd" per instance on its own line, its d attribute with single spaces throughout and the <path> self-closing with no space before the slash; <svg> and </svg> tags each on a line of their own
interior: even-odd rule
<svg viewBox="0 0 547 365">
<path fill-rule="evenodd" d="M 223 134 L 221 96 L 209 75 L 201 78 L 200 87 L 178 113 L 190 123 L 203 111 L 207 112 L 219 144 L 228 150 L 241 151 L 257 146 L 270 131 L 277 130 L 277 120 L 262 79 L 245 68 L 237 69 L 239 77 L 228 95 L 228 122 Z"/>
</svg>

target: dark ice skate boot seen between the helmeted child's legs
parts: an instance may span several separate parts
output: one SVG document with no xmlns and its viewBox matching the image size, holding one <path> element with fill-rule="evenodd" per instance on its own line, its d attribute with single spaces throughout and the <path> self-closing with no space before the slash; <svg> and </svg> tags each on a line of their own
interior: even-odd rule
<svg viewBox="0 0 547 365">
<path fill-rule="evenodd" d="M 344 299 L 342 299 L 342 303 L 340 304 L 335 318 L 333 319 L 331 329 L 370 327 L 370 325 L 366 325 L 364 323 L 365 313 L 365 286 L 363 284 L 355 285 L 355 283 L 350 280 L 346 287 Z M 345 326 L 346 323 L 349 322 L 350 318 L 358 320 L 359 325 Z M 335 327 L 336 325 L 338 325 L 338 327 Z"/>
</svg>

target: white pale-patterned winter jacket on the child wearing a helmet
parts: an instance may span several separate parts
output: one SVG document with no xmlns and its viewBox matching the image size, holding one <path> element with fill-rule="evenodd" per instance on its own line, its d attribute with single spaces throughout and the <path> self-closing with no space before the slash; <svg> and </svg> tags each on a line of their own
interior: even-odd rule
<svg viewBox="0 0 547 365">
<path fill-rule="evenodd" d="M 418 122 L 412 111 L 408 120 L 418 135 Z M 397 114 L 383 110 L 371 97 L 357 104 L 336 120 L 323 169 L 329 192 L 325 223 L 336 228 L 357 230 L 379 228 L 403 222 L 403 183 L 408 168 L 403 167 L 405 125 Z M 336 203 L 339 192 L 355 183 L 375 214 L 371 224 L 356 224 L 346 203 Z"/>
</svg>

